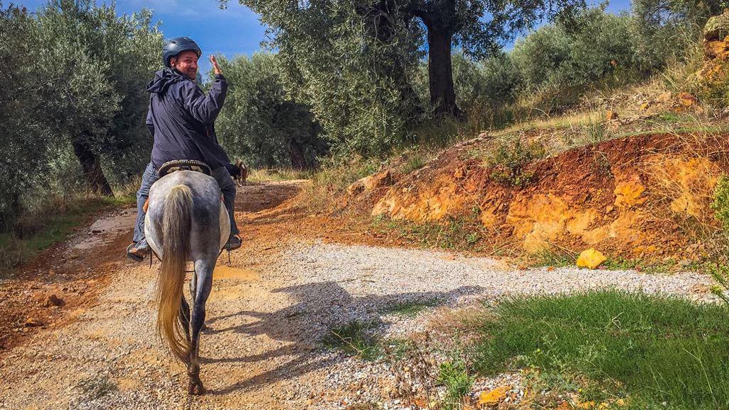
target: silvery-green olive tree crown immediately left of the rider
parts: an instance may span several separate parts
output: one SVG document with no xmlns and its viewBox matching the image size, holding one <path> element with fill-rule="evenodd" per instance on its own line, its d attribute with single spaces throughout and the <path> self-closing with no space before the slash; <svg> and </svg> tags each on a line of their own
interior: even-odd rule
<svg viewBox="0 0 729 410">
<path fill-rule="evenodd" d="M 36 22 L 34 68 L 44 76 L 45 126 L 69 148 L 104 155 L 114 178 L 138 173 L 152 143 L 145 89 L 160 68 L 163 44 L 152 12 L 117 16 L 113 6 L 90 0 L 52 0 L 36 12 Z"/>
</svg>

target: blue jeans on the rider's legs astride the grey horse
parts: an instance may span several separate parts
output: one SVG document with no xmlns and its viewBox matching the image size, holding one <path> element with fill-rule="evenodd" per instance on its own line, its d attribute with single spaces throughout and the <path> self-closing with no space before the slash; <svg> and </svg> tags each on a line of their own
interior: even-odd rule
<svg viewBox="0 0 729 410">
<path fill-rule="evenodd" d="M 235 224 L 235 217 L 233 216 L 235 182 L 233 182 L 233 178 L 230 178 L 230 173 L 225 167 L 215 168 L 211 171 L 211 174 L 218 181 L 220 191 L 223 193 L 223 202 L 225 202 L 225 208 L 227 208 L 230 217 L 230 236 L 238 234 L 238 225 Z M 134 243 L 144 239 L 144 216 L 146 215 L 144 202 L 147 202 L 149 188 L 157 179 L 160 179 L 160 176 L 157 175 L 157 170 L 152 167 L 152 162 L 149 162 L 147 169 L 144 170 L 144 174 L 141 176 L 141 186 L 137 191 L 137 221 L 134 225 Z"/>
</svg>

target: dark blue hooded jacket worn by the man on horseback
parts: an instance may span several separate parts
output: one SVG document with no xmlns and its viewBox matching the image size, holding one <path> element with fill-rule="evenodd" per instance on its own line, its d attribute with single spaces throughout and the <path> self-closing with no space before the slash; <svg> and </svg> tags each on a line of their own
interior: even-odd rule
<svg viewBox="0 0 729 410">
<path fill-rule="evenodd" d="M 230 164 L 218 143 L 214 122 L 225 101 L 227 83 L 215 76 L 213 87 L 203 93 L 198 84 L 172 68 L 155 73 L 147 85 L 147 127 L 155 138 L 152 166 L 173 159 L 198 159 L 212 169 Z"/>
</svg>

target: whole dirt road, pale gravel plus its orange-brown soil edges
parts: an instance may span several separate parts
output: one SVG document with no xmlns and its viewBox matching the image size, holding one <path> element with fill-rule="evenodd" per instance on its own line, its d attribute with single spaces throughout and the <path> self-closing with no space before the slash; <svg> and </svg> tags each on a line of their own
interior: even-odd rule
<svg viewBox="0 0 729 410">
<path fill-rule="evenodd" d="M 184 368 L 157 340 L 158 264 L 122 258 L 134 213 L 114 210 L 0 283 L 0 409 L 404 409 L 403 384 L 424 386 L 403 376 L 402 363 L 352 358 L 321 339 L 346 323 L 368 323 L 393 344 L 433 344 L 427 350 L 437 365 L 452 340 L 451 308 L 474 301 L 601 286 L 708 294 L 709 278 L 691 273 L 523 271 L 393 247 L 366 224 L 308 215 L 292 201 L 304 184 L 241 187 L 244 246 L 230 266 L 225 254 L 219 259 L 207 304 L 200 347 L 207 395 L 185 393 Z M 413 306 L 426 308 L 404 313 Z M 505 374 L 475 388 L 504 378 L 518 385 Z"/>
</svg>

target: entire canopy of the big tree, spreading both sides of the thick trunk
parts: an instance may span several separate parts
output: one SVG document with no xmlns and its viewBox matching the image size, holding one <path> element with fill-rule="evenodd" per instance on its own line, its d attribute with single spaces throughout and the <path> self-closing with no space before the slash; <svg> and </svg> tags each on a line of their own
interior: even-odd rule
<svg viewBox="0 0 729 410">
<path fill-rule="evenodd" d="M 519 31 L 545 19 L 572 15 L 584 4 L 582 0 L 515 1 L 508 6 L 482 0 L 350 0 L 292 6 L 275 0 L 241 2 L 270 26 L 270 47 L 281 55 L 286 90 L 311 106 L 335 152 L 365 156 L 388 154 L 392 146 L 412 141 L 413 127 L 429 117 L 424 107 L 432 104 L 437 116 L 443 114 L 443 98 L 452 99 L 443 91 L 453 83 L 451 70 L 433 74 L 451 66 L 448 52 L 431 53 L 428 81 L 419 69 L 426 41 L 429 50 L 450 50 L 458 44 L 468 55 L 485 58 L 496 55 Z M 508 90 L 508 80 L 500 78 L 509 76 L 507 70 L 508 66 L 486 77 L 499 92 Z M 429 98 L 418 98 L 418 83 L 428 84 Z M 497 100 L 499 95 L 491 98 Z"/>
</svg>

